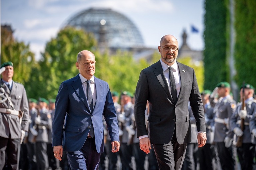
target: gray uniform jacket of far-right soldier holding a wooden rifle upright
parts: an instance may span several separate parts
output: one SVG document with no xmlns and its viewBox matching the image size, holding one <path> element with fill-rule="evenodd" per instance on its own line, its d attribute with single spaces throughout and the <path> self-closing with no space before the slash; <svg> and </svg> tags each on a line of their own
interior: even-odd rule
<svg viewBox="0 0 256 170">
<path fill-rule="evenodd" d="M 239 111 L 241 110 L 242 103 L 237 104 L 237 108 L 234 112 L 234 114 L 230 118 L 230 129 L 233 131 L 234 128 L 241 126 L 241 119 L 238 115 Z M 247 116 L 244 119 L 244 134 L 243 134 L 243 143 L 251 143 L 251 132 L 249 128 L 249 121 L 252 118 L 253 113 L 256 112 L 256 103 L 253 98 L 250 98 L 248 101 L 246 101 L 246 111 Z M 236 137 L 237 139 L 237 137 Z"/>
</svg>

